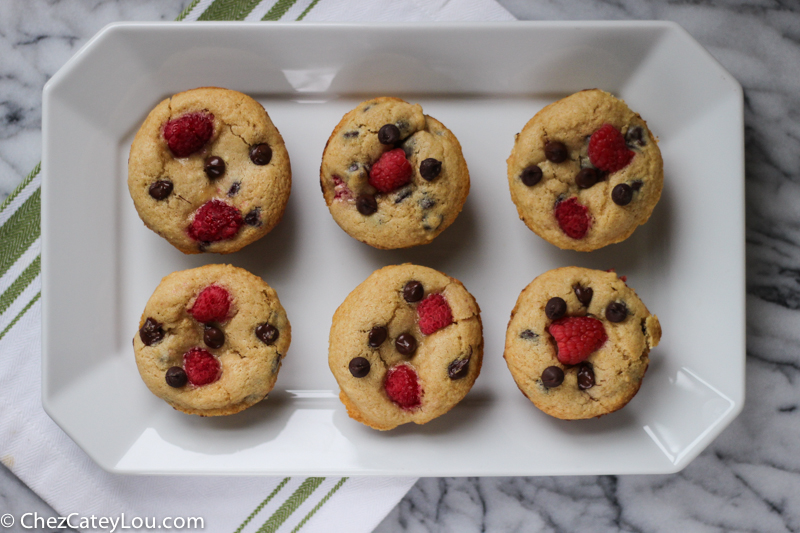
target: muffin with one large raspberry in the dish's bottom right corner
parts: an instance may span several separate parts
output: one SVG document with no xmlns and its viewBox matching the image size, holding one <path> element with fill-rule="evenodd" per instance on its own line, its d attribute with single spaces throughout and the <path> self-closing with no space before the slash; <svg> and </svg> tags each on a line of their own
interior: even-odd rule
<svg viewBox="0 0 800 533">
<path fill-rule="evenodd" d="M 661 325 L 625 277 L 565 267 L 520 294 L 505 357 L 517 386 L 556 418 L 602 416 L 638 392 Z"/>
</svg>

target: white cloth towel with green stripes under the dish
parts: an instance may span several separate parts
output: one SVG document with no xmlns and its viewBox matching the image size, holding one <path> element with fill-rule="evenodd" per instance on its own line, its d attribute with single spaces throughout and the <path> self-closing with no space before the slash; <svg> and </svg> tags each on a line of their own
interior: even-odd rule
<svg viewBox="0 0 800 533">
<path fill-rule="evenodd" d="M 513 20 L 494 0 L 193 0 L 178 20 Z M 0 205 L 0 461 L 66 516 L 202 517 L 206 531 L 371 531 L 414 478 L 121 476 L 41 407 L 40 168 Z M 79 528 L 89 531 L 89 528 Z M 106 529 L 108 530 L 108 529 Z"/>
</svg>

